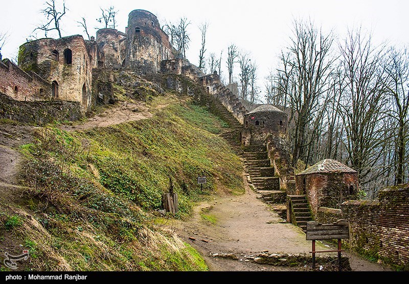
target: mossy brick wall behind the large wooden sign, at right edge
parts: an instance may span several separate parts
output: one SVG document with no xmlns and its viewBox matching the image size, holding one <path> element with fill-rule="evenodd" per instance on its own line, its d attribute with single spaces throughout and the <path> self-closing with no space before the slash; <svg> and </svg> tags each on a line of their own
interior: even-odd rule
<svg viewBox="0 0 409 284">
<path fill-rule="evenodd" d="M 384 189 L 378 198 L 342 204 L 350 222 L 350 243 L 409 269 L 409 187 Z"/>
</svg>

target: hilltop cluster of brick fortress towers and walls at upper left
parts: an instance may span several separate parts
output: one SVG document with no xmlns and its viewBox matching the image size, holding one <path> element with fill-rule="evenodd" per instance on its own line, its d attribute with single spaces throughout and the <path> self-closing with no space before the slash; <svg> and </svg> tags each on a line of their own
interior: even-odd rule
<svg viewBox="0 0 409 284">
<path fill-rule="evenodd" d="M 7 59 L 0 63 L 0 91 L 18 101 L 77 102 L 85 112 L 97 104 L 98 98 L 106 101 L 103 96 L 109 96 L 93 84 L 100 69 L 158 72 L 163 60 L 174 59 L 173 51 L 156 16 L 134 10 L 125 33 L 101 29 L 91 40 L 73 35 L 22 44 L 18 66 Z"/>
</svg>

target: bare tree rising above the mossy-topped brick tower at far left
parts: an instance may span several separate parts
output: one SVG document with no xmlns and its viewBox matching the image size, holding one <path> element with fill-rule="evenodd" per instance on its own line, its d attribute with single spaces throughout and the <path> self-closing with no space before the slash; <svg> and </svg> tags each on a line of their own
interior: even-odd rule
<svg viewBox="0 0 409 284">
<path fill-rule="evenodd" d="M 68 10 L 65 7 L 65 1 L 62 2 L 62 9 L 58 9 L 56 7 L 56 0 L 50 0 L 45 3 L 46 8 L 41 10 L 40 12 L 47 17 L 47 22 L 40 24 L 36 30 L 44 31 L 44 35 L 47 37 L 47 33 L 53 30 L 58 32 L 58 36 L 61 38 L 61 30 L 60 30 L 60 21 L 62 16 L 65 15 L 65 12 Z"/>
</svg>

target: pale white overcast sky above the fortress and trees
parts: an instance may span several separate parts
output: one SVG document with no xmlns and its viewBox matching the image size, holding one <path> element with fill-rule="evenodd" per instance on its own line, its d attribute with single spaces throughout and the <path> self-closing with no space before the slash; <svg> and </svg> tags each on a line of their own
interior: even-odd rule
<svg viewBox="0 0 409 284">
<path fill-rule="evenodd" d="M 57 0 L 61 2 L 62 0 Z M 9 38 L 2 49 L 3 58 L 15 58 L 18 47 L 26 42 L 36 25 L 43 20 L 39 10 L 45 0 L 0 0 L 0 32 L 7 32 Z M 251 53 L 259 66 L 259 85 L 270 68 L 275 68 L 277 55 L 285 48 L 291 34 L 291 21 L 294 17 L 310 17 L 324 31 L 334 30 L 336 35 L 345 34 L 347 28 L 362 26 L 372 32 L 377 42 L 389 41 L 390 44 L 409 42 L 409 1 L 406 0 L 66 0 L 69 12 L 61 21 L 62 35 L 84 34 L 77 27 L 81 17 L 87 20 L 88 31 L 95 36 L 96 21 L 100 17 L 100 7 L 110 5 L 118 10 L 117 29 L 125 32 L 128 14 L 135 9 L 148 10 L 155 14 L 161 25 L 165 20 L 174 22 L 187 17 L 191 24 L 188 32 L 191 46 L 187 59 L 198 65 L 200 32 L 198 26 L 209 22 L 207 33 L 207 53 L 226 55 L 227 47 L 235 43 L 240 49 Z M 55 34 L 50 34 L 49 36 Z M 37 37 L 44 37 L 38 32 Z M 226 74 L 225 59 L 222 72 Z M 238 71 L 238 66 L 235 67 Z"/>
</svg>

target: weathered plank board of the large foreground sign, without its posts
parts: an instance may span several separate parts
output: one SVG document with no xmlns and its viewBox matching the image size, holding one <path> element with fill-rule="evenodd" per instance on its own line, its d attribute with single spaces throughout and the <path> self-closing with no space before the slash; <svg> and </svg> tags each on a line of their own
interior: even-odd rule
<svg viewBox="0 0 409 284">
<path fill-rule="evenodd" d="M 347 220 L 338 220 L 332 224 L 307 222 L 306 240 L 349 239 Z"/>
</svg>

